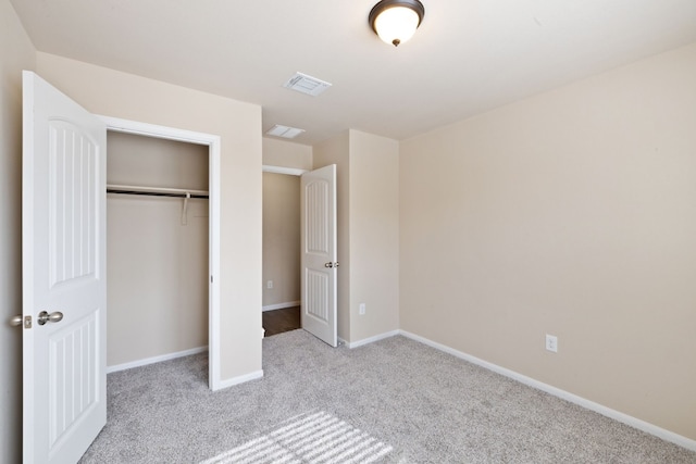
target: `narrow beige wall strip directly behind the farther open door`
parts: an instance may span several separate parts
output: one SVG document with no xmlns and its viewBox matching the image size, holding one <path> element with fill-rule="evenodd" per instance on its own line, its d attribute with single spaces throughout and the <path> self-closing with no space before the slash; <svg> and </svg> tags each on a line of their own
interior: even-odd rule
<svg viewBox="0 0 696 464">
<path fill-rule="evenodd" d="M 349 133 L 312 148 L 313 168 L 336 165 L 336 239 L 338 241 L 338 338 L 350 341 Z"/>
</svg>

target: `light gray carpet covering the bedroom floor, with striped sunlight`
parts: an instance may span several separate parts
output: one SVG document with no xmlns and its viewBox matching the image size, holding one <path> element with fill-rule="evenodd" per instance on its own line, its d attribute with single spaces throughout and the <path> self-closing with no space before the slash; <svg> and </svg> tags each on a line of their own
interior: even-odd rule
<svg viewBox="0 0 696 464">
<path fill-rule="evenodd" d="M 207 354 L 109 375 L 82 463 L 696 463 L 696 453 L 403 337 L 263 341 L 264 377 L 208 390 Z"/>
</svg>

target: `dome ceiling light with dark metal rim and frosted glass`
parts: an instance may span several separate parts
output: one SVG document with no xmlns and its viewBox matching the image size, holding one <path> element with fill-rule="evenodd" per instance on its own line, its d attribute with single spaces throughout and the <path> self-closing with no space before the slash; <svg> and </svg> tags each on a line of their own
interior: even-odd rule
<svg viewBox="0 0 696 464">
<path fill-rule="evenodd" d="M 419 0 L 382 0 L 370 11 L 370 25 L 387 43 L 398 47 L 410 39 L 425 16 Z"/>
</svg>

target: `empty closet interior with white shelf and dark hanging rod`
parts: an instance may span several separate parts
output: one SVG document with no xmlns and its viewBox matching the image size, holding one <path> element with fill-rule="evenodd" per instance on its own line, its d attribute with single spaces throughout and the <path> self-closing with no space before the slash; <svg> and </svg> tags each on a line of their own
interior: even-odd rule
<svg viewBox="0 0 696 464">
<path fill-rule="evenodd" d="M 110 371 L 204 351 L 209 147 L 109 131 Z"/>
</svg>

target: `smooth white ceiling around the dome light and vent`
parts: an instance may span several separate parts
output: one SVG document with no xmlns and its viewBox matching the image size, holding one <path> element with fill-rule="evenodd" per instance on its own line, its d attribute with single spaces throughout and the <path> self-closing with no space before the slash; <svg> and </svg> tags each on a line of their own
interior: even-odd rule
<svg viewBox="0 0 696 464">
<path fill-rule="evenodd" d="M 263 130 L 308 145 L 405 139 L 696 42 L 696 0 L 422 0 L 398 48 L 368 24 L 377 0 L 11 1 L 39 51 L 261 104 Z M 298 71 L 333 87 L 283 88 Z"/>
</svg>

